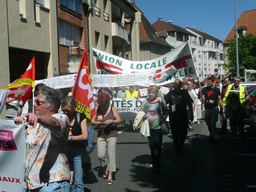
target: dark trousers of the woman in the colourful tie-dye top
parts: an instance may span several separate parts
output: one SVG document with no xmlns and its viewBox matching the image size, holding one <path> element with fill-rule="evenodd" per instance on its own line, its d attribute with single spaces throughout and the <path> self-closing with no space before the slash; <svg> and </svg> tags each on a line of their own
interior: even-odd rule
<svg viewBox="0 0 256 192">
<path fill-rule="evenodd" d="M 161 166 L 161 150 L 163 134 L 162 129 L 150 129 L 150 136 L 148 136 L 148 143 L 151 152 L 152 164 L 156 168 Z"/>
</svg>

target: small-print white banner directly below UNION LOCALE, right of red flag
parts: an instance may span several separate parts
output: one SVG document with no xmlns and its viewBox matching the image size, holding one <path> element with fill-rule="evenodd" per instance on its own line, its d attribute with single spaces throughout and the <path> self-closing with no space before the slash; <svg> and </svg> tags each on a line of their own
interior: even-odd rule
<svg viewBox="0 0 256 192">
<path fill-rule="evenodd" d="M 141 71 L 117 75 L 91 74 L 93 87 L 120 87 L 156 83 L 156 71 Z"/>
</svg>

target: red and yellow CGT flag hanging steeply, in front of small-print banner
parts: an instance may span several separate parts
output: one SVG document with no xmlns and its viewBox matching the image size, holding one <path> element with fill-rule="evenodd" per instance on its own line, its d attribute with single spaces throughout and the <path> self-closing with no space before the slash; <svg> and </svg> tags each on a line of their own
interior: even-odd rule
<svg viewBox="0 0 256 192">
<path fill-rule="evenodd" d="M 92 81 L 88 67 L 87 53 L 85 50 L 77 72 L 72 95 L 78 102 L 76 111 L 86 115 L 87 125 L 89 125 L 92 117 L 96 115 L 96 111 L 93 100 Z"/>
</svg>

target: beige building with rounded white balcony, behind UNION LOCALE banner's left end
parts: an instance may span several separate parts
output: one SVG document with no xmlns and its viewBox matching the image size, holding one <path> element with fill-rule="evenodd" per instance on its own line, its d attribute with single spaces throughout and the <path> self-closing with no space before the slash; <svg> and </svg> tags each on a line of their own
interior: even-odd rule
<svg viewBox="0 0 256 192">
<path fill-rule="evenodd" d="M 89 44 L 129 60 L 139 60 L 138 12 L 129 0 L 88 0 L 92 5 L 89 16 Z M 125 26 L 129 24 L 130 29 Z M 92 51 L 91 72 L 96 73 Z"/>
</svg>

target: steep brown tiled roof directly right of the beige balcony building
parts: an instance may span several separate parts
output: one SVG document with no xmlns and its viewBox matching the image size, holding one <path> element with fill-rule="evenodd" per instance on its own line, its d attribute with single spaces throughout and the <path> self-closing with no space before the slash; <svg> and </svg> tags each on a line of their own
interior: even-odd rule
<svg viewBox="0 0 256 192">
<path fill-rule="evenodd" d="M 164 46 L 172 47 L 168 43 L 163 43 L 156 35 L 156 30 L 152 27 L 147 18 L 141 14 L 141 23 L 139 23 L 140 28 L 140 43 L 143 42 L 153 42 L 156 44 L 162 44 Z M 174 47 L 172 47 L 174 48 Z"/>
</svg>

